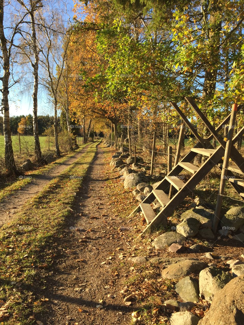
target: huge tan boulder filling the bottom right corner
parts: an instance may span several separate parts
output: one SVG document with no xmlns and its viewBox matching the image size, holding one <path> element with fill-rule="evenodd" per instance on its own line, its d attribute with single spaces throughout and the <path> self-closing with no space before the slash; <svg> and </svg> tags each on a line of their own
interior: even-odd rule
<svg viewBox="0 0 244 325">
<path fill-rule="evenodd" d="M 218 291 L 199 325 L 243 325 L 244 276 L 232 279 Z"/>
</svg>

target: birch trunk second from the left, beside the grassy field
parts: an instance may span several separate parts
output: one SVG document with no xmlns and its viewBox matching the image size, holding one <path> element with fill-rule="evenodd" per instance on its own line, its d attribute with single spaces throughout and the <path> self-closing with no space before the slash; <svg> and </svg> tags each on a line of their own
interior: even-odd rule
<svg viewBox="0 0 244 325">
<path fill-rule="evenodd" d="M 41 146 L 38 136 L 38 127 L 37 127 L 37 93 L 38 93 L 38 65 L 39 65 L 39 54 L 36 46 L 36 33 L 35 33 L 35 18 L 34 18 L 34 8 L 30 11 L 31 18 L 31 30 L 32 30 L 32 46 L 33 54 L 35 61 L 32 63 L 33 67 L 33 76 L 34 76 L 34 87 L 33 87 L 33 135 L 34 135 L 34 144 L 35 144 L 35 157 L 37 162 L 41 162 L 42 153 Z"/>
</svg>

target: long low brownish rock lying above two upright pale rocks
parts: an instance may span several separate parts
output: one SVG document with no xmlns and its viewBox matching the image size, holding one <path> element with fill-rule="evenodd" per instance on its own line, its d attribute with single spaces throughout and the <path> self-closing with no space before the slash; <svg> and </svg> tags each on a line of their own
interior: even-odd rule
<svg viewBox="0 0 244 325">
<path fill-rule="evenodd" d="M 161 276 L 164 279 L 179 279 L 191 273 L 199 273 L 206 266 L 206 263 L 200 262 L 199 260 L 185 259 L 163 269 Z"/>
</svg>

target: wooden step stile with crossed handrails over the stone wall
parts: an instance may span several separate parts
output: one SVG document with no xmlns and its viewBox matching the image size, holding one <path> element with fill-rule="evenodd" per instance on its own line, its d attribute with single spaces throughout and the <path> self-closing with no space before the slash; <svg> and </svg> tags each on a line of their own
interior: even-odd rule
<svg viewBox="0 0 244 325">
<path fill-rule="evenodd" d="M 210 170 L 214 166 L 217 166 L 220 170 L 222 169 L 222 157 L 224 156 L 226 142 L 222 139 L 218 132 L 223 128 L 225 124 L 229 122 L 231 114 L 229 114 L 215 130 L 207 118 L 203 115 L 201 110 L 197 107 L 193 99 L 186 97 L 186 100 L 196 111 L 203 123 L 207 126 L 210 131 L 210 136 L 206 139 L 203 139 L 201 136 L 199 136 L 197 130 L 183 114 L 177 104 L 170 103 L 181 116 L 194 136 L 197 138 L 198 142 L 194 148 L 192 148 L 191 151 L 189 151 L 184 156 L 184 158 L 177 163 L 177 165 L 168 173 L 168 175 L 164 177 L 164 179 L 157 185 L 157 187 L 153 189 L 152 192 L 142 201 L 142 203 L 140 203 L 139 206 L 130 214 L 131 216 L 137 211 L 142 211 L 148 224 L 142 233 L 151 230 L 159 225 L 162 227 L 167 227 L 167 218 L 174 212 L 177 206 L 183 202 L 187 195 L 193 192 L 197 184 L 210 172 Z M 237 111 L 240 109 L 242 109 L 242 105 L 239 105 L 237 107 Z M 229 166 L 227 172 L 227 179 L 229 183 L 240 195 L 242 201 L 244 201 L 244 180 L 236 179 L 233 172 L 244 174 L 244 159 L 238 150 L 234 147 L 234 144 L 239 138 L 243 137 L 243 134 L 244 127 L 242 127 L 236 136 L 233 137 L 230 157 L 237 164 L 237 166 Z M 210 140 L 213 138 L 215 138 L 220 144 L 216 149 L 214 149 L 210 143 Z M 197 154 L 207 157 L 207 160 L 200 167 L 197 167 L 192 163 Z M 186 182 L 183 181 L 184 177 L 180 175 L 180 173 L 184 170 L 187 170 L 192 174 L 190 179 L 188 179 Z M 171 199 L 165 193 L 169 190 L 170 185 L 172 185 L 176 190 L 176 193 Z M 151 203 L 155 199 L 157 199 L 162 205 L 162 209 L 157 215 L 151 207 Z"/>
</svg>

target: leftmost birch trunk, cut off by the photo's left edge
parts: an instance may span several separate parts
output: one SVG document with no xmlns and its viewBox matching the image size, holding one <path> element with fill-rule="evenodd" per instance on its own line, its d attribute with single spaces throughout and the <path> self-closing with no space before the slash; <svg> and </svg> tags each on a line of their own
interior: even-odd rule
<svg viewBox="0 0 244 325">
<path fill-rule="evenodd" d="M 0 0 L 0 41 L 1 41 L 1 50 L 3 55 L 3 77 L 2 80 L 2 111 L 3 111 L 3 133 L 4 133 L 4 144 L 5 144 L 5 165 L 8 171 L 8 174 L 12 173 L 18 175 L 19 172 L 16 169 L 14 153 L 11 140 L 11 132 L 9 125 L 9 103 L 8 103 L 8 94 L 9 94 L 9 77 L 10 77 L 10 62 L 9 55 L 7 50 L 7 40 L 4 34 L 4 3 L 3 0 Z"/>
</svg>

